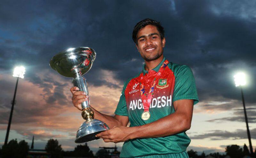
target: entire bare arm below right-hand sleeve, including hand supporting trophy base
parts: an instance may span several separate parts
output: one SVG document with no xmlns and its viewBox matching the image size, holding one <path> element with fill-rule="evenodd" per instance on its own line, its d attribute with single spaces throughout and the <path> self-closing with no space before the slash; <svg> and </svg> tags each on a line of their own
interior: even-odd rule
<svg viewBox="0 0 256 158">
<path fill-rule="evenodd" d="M 142 126 L 116 126 L 97 134 L 97 137 L 104 139 L 105 142 L 118 143 L 131 139 L 166 137 L 187 131 L 191 125 L 193 103 L 190 99 L 175 101 L 175 112 L 168 116 Z"/>
</svg>

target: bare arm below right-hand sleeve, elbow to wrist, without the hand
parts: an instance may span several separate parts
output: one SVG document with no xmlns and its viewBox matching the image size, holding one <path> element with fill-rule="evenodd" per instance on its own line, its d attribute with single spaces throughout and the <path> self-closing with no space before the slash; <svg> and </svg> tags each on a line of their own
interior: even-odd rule
<svg viewBox="0 0 256 158">
<path fill-rule="evenodd" d="M 173 103 L 175 112 L 155 122 L 129 129 L 129 138 L 166 137 L 190 129 L 194 100 L 183 99 Z"/>
</svg>

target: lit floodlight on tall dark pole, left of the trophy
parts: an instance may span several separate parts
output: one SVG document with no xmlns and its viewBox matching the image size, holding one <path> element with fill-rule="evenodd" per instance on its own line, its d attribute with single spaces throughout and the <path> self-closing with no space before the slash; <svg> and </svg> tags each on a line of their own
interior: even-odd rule
<svg viewBox="0 0 256 158">
<path fill-rule="evenodd" d="M 23 66 L 18 66 L 18 67 L 14 68 L 12 76 L 13 77 L 17 77 L 17 82 L 16 82 L 14 96 L 13 96 L 13 100 L 12 100 L 12 108 L 11 108 L 11 113 L 10 113 L 9 122 L 8 122 L 8 126 L 7 126 L 7 131 L 6 131 L 6 136 L 5 136 L 5 140 L 4 140 L 4 145 L 7 145 L 7 142 L 8 142 L 10 127 L 11 127 L 11 122 L 12 122 L 12 112 L 13 112 L 13 108 L 14 108 L 14 104 L 15 104 L 15 97 L 16 97 L 16 91 L 17 91 L 17 86 L 18 86 L 19 78 L 24 78 L 24 74 L 25 74 L 25 68 Z"/>
</svg>

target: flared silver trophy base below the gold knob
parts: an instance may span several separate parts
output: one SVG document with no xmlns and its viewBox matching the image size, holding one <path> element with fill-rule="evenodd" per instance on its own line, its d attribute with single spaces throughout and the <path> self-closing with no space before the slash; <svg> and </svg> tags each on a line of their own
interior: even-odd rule
<svg viewBox="0 0 256 158">
<path fill-rule="evenodd" d="M 108 125 L 100 120 L 85 121 L 76 132 L 75 143 L 97 140 L 99 138 L 95 137 L 95 135 L 108 129 Z"/>
</svg>

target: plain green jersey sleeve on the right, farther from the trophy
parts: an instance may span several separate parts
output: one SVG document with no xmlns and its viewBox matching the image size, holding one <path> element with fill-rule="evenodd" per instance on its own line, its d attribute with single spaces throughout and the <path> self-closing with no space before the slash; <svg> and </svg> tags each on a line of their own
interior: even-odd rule
<svg viewBox="0 0 256 158">
<path fill-rule="evenodd" d="M 186 65 L 182 65 L 175 75 L 173 102 L 181 99 L 193 99 L 194 105 L 199 102 L 193 72 Z"/>
</svg>

